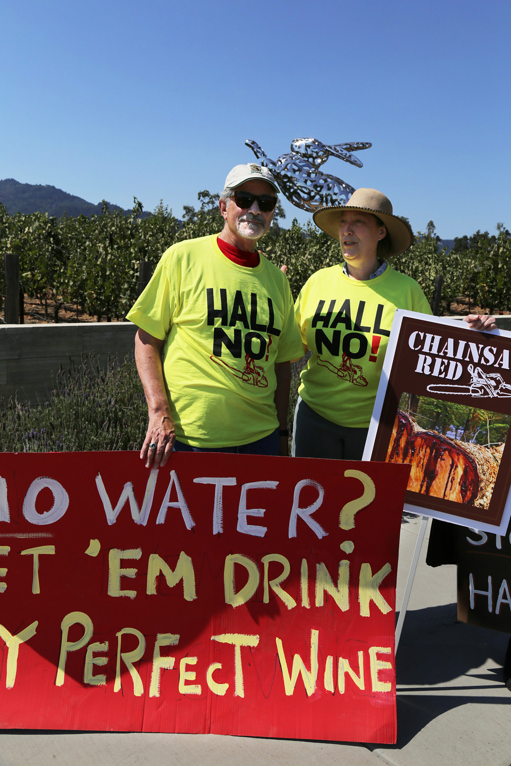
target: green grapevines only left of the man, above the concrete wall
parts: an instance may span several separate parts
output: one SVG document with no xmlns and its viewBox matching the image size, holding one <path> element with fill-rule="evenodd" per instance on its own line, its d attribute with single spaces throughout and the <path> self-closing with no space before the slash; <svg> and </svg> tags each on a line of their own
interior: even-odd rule
<svg viewBox="0 0 511 766">
<path fill-rule="evenodd" d="M 103 201 L 102 213 L 90 219 L 9 216 L 0 205 L 0 247 L 20 255 L 24 291 L 41 302 L 45 316 L 48 300 L 54 301 L 55 322 L 64 303 L 98 319 L 123 319 L 137 296 L 140 261 L 156 265 L 182 231 L 161 204 L 154 215 L 142 215 L 136 198 L 129 216 Z"/>
</svg>

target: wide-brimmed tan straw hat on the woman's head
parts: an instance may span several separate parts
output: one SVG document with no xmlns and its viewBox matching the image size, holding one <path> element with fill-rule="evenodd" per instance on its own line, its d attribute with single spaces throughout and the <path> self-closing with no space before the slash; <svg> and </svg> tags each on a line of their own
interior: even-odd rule
<svg viewBox="0 0 511 766">
<path fill-rule="evenodd" d="M 339 241 L 339 222 L 345 210 L 372 213 L 383 221 L 390 240 L 389 255 L 404 253 L 414 241 L 414 233 L 410 225 L 392 213 L 391 201 L 377 189 L 356 189 L 346 205 L 328 205 L 318 208 L 313 214 L 313 221 L 316 226 L 326 231 L 326 234 Z"/>
</svg>

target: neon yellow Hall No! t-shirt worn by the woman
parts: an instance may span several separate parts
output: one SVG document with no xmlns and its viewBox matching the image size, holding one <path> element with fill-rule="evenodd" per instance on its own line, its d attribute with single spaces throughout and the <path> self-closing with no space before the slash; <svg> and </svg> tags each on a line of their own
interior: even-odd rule
<svg viewBox="0 0 511 766">
<path fill-rule="evenodd" d="M 312 356 L 298 392 L 326 420 L 369 427 L 395 309 L 431 314 L 418 283 L 389 266 L 362 282 L 336 265 L 303 286 L 296 318 Z"/>
</svg>

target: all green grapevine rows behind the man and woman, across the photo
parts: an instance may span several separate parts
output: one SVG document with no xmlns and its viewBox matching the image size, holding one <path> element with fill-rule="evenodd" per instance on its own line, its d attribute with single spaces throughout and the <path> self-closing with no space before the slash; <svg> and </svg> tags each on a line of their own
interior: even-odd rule
<svg viewBox="0 0 511 766">
<path fill-rule="evenodd" d="M 162 253 L 178 241 L 221 231 L 224 220 L 218 194 L 198 193 L 198 207 L 187 205 L 182 221 L 160 201 L 156 210 L 144 213 L 133 199 L 129 215 L 105 201 L 101 214 L 87 218 L 48 217 L 47 214 L 9 215 L 0 203 L 0 248 L 20 254 L 25 293 L 40 300 L 47 314 L 54 301 L 54 321 L 61 306 L 83 309 L 98 319 L 123 319 L 136 300 L 139 267 L 148 260 L 154 268 Z M 289 229 L 280 228 L 284 213 L 277 204 L 274 223 L 260 241 L 264 254 L 281 267 L 287 265 L 291 292 L 296 298 L 306 280 L 318 269 L 342 260 L 339 243 L 317 229 L 312 221 L 302 226 L 296 218 Z M 497 224 L 498 237 L 477 231 L 460 237 L 447 253 L 439 247 L 433 221 L 419 231 L 412 247 L 391 260 L 398 271 L 421 285 L 431 301 L 434 278 L 444 276 L 442 300 L 450 304 L 466 296 L 470 303 L 490 309 L 511 308 L 511 235 Z M 0 288 L 3 288 L 0 269 Z M 5 290 L 0 289 L 0 293 Z"/>
</svg>

